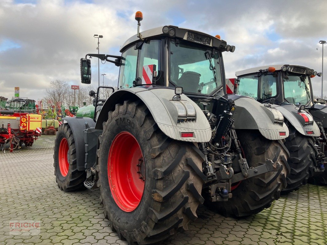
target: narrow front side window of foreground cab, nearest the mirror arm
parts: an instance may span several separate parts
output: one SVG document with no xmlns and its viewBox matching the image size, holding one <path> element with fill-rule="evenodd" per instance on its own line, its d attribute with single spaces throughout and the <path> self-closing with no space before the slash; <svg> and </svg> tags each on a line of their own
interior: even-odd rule
<svg viewBox="0 0 327 245">
<path fill-rule="evenodd" d="M 133 81 L 136 78 L 137 53 L 138 50 L 135 50 L 133 46 L 122 54 L 118 88 L 126 89 L 133 87 Z"/>
</svg>

